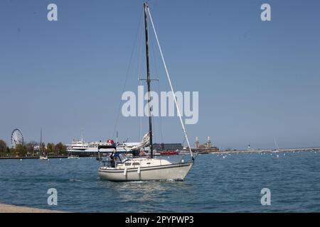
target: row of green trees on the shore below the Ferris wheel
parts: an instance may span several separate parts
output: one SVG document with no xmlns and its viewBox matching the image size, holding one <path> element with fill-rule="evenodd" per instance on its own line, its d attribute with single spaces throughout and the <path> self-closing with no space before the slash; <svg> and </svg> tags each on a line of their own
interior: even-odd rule
<svg viewBox="0 0 320 227">
<path fill-rule="evenodd" d="M 41 149 L 40 149 L 41 146 Z M 16 148 L 9 148 L 6 145 L 4 140 L 0 140 L 0 156 L 2 157 L 12 157 L 12 156 L 19 156 L 19 157 L 32 157 L 32 156 L 39 156 L 39 155 L 66 155 L 67 153 L 67 146 L 63 143 L 36 143 L 36 142 L 29 142 L 26 144 L 18 144 Z"/>
</svg>

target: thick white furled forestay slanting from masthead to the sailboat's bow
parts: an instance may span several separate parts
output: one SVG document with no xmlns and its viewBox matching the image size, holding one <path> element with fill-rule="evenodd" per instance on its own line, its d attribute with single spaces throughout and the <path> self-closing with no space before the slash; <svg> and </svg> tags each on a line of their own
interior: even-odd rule
<svg viewBox="0 0 320 227">
<path fill-rule="evenodd" d="M 183 121 L 182 121 L 182 117 L 181 117 L 181 112 L 180 112 L 180 109 L 179 109 L 179 106 L 178 106 L 178 102 L 176 101 L 176 96 L 174 94 L 174 87 L 172 87 L 171 79 L 170 79 L 170 76 L 169 76 L 169 72 L 168 72 L 168 69 L 166 67 L 166 62 L 164 61 L 164 55 L 162 54 L 161 46 L 160 46 L 160 43 L 159 43 L 158 35 L 156 35 L 156 28 L 154 28 L 154 21 L 152 21 L 152 17 L 151 17 L 151 13 L 150 13 L 149 8 L 147 8 L 147 10 L 148 10 L 148 13 L 149 13 L 149 16 L 150 16 L 150 21 L 151 21 L 152 28 L 154 29 L 154 35 L 156 36 L 156 42 L 158 43 L 158 47 L 159 47 L 159 51 L 160 51 L 160 54 L 161 54 L 162 62 L 164 63 L 164 69 L 166 70 L 166 77 L 169 80 L 172 96 L 174 96 L 174 103 L 176 104 L 176 109 L 177 109 L 178 116 L 179 116 L 179 119 L 180 119 L 180 122 L 181 122 L 182 130 L 183 130 L 184 136 L 186 137 L 186 141 L 188 143 L 188 147 L 189 147 L 189 150 L 190 150 L 190 154 L 191 154 L 192 160 L 194 160 L 193 153 L 192 153 L 192 150 L 191 150 L 191 146 L 190 146 L 190 143 L 189 143 L 189 140 L 188 140 L 188 135 L 186 134 L 186 128 L 184 127 L 184 124 L 183 124 Z"/>
</svg>

